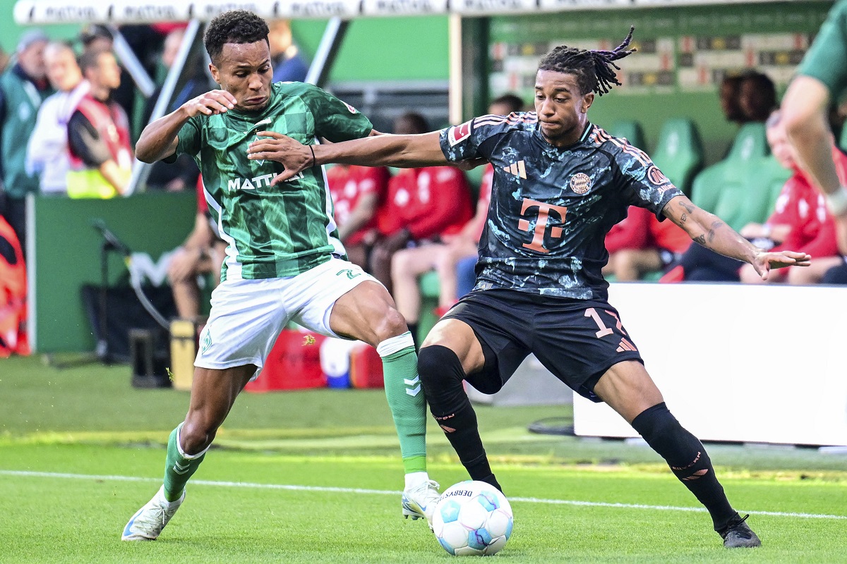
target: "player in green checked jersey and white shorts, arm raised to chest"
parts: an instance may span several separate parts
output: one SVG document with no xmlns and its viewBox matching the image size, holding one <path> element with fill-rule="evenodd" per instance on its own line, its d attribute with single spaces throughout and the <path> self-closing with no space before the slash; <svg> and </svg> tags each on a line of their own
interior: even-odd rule
<svg viewBox="0 0 847 564">
<path fill-rule="evenodd" d="M 136 154 L 144 162 L 180 153 L 195 158 L 227 256 L 200 338 L 188 414 L 170 435 L 164 483 L 127 523 L 122 539 L 158 538 L 235 397 L 256 377 L 289 320 L 377 348 L 406 470 L 403 515 L 431 520 L 438 492 L 426 473 L 424 394 L 406 321 L 385 287 L 346 261 L 323 170 L 312 167 L 272 186 L 281 165 L 247 158 L 260 131 L 307 145 L 376 132 L 368 118 L 315 86 L 272 85 L 268 25 L 256 14 L 220 14 L 203 41 L 221 90 L 150 123 Z"/>
</svg>

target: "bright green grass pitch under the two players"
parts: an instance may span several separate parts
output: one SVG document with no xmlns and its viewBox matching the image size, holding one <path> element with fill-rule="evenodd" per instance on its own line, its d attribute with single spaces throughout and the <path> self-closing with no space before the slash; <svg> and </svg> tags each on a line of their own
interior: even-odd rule
<svg viewBox="0 0 847 564">
<path fill-rule="evenodd" d="M 424 523 L 400 516 L 401 465 L 379 391 L 241 397 L 161 539 L 120 542 L 158 489 L 163 441 L 188 400 L 128 382 L 126 367 L 0 360 L 0 562 L 452 561 Z M 563 408 L 478 411 L 515 512 L 496 561 L 847 561 L 847 518 L 837 518 L 847 516 L 847 457 L 708 446 L 763 542 L 725 550 L 648 448 L 526 432 L 568 416 Z M 465 479 L 437 428 L 429 442 L 433 478 Z"/>
</svg>

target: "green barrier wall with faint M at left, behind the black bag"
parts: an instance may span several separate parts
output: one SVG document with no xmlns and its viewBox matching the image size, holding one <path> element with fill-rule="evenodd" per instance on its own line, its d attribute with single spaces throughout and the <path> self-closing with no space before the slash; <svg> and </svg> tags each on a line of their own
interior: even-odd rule
<svg viewBox="0 0 847 564">
<path fill-rule="evenodd" d="M 197 199 L 182 194 L 137 194 L 115 200 L 69 200 L 39 197 L 35 203 L 35 262 L 30 264 L 30 320 L 39 353 L 91 351 L 94 337 L 86 318 L 80 287 L 100 283 L 102 237 L 92 226 L 101 218 L 133 252 L 147 253 L 152 263 L 185 240 L 194 226 Z M 33 270 L 34 269 L 34 270 Z M 128 279 L 119 255 L 108 263 L 110 283 Z"/>
</svg>

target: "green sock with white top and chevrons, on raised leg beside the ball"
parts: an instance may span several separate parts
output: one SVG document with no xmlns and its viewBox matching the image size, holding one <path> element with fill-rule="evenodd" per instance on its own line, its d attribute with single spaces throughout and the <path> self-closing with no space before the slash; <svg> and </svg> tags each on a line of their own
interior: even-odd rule
<svg viewBox="0 0 847 564">
<path fill-rule="evenodd" d="M 380 342 L 377 352 L 382 357 L 385 397 L 400 438 L 403 469 L 407 474 L 426 472 L 426 400 L 412 333 Z"/>
</svg>

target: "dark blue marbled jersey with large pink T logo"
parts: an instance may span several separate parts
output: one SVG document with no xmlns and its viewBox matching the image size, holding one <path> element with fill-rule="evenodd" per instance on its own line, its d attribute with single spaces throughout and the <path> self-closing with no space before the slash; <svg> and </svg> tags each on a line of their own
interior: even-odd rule
<svg viewBox="0 0 847 564">
<path fill-rule="evenodd" d="M 560 148 L 541 135 L 535 112 L 481 116 L 444 129 L 440 144 L 451 162 L 494 166 L 475 289 L 606 299 L 606 233 L 629 205 L 661 220 L 682 195 L 643 151 L 591 123 Z"/>
</svg>

